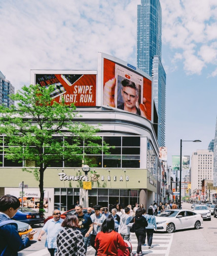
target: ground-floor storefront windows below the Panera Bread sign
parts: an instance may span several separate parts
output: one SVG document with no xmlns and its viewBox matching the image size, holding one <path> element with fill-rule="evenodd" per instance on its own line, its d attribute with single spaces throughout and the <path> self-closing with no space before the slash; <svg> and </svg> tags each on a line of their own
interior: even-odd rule
<svg viewBox="0 0 217 256">
<path fill-rule="evenodd" d="M 80 188 L 54 188 L 54 209 L 67 211 L 79 200 Z M 100 205 L 102 207 L 113 208 L 113 205 L 121 204 L 134 206 L 139 201 L 138 189 L 107 189 L 92 188 L 88 190 L 89 206 Z"/>
</svg>

